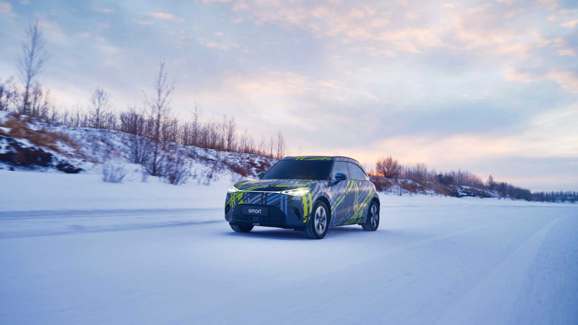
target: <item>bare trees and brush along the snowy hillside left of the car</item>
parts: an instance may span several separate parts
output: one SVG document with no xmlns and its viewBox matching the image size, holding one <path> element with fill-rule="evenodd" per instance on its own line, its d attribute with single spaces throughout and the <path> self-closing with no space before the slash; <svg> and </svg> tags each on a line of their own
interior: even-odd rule
<svg viewBox="0 0 578 325">
<path fill-rule="evenodd" d="M 153 79 L 153 90 L 143 91 L 140 108 L 130 106 L 120 113 L 113 109 L 110 93 L 96 87 L 86 104 L 72 109 L 55 104 L 50 91 L 42 87 L 38 76 L 44 71 L 50 54 L 46 50 L 38 21 L 25 29 L 21 52 L 16 58 L 17 77 L 0 78 L 0 110 L 36 116 L 70 125 L 103 130 L 116 130 L 131 135 L 131 161 L 142 164 L 154 176 L 163 176 L 170 169 L 182 169 L 177 146 L 197 146 L 228 152 L 259 154 L 280 159 L 287 151 L 281 132 L 255 141 L 247 130 L 239 131 L 234 117 L 203 121 L 202 107 L 197 102 L 187 119 L 171 114 L 175 83 L 170 82 L 165 62 L 160 61 Z M 174 170 L 171 172 L 175 172 Z M 179 170 L 179 172 L 182 172 Z"/>
</svg>

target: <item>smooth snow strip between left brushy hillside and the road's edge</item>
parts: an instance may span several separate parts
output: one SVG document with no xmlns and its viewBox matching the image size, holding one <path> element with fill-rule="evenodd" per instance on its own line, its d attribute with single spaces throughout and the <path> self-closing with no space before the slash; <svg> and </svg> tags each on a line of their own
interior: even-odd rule
<svg viewBox="0 0 578 325">
<path fill-rule="evenodd" d="M 190 179 L 175 186 L 140 172 L 127 181 L 102 182 L 101 175 L 0 170 L 0 210 L 90 210 L 214 208 L 224 204 L 231 176 L 220 175 L 210 186 Z"/>
</svg>

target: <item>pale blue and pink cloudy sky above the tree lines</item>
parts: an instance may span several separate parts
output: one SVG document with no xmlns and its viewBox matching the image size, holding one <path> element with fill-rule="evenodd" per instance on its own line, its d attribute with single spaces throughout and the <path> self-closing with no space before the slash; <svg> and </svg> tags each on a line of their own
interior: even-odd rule
<svg viewBox="0 0 578 325">
<path fill-rule="evenodd" d="M 578 190 L 578 1 L 0 0 L 0 77 L 35 19 L 40 82 L 142 105 L 163 59 L 172 113 L 234 116 L 288 154 L 392 155 Z"/>
</svg>

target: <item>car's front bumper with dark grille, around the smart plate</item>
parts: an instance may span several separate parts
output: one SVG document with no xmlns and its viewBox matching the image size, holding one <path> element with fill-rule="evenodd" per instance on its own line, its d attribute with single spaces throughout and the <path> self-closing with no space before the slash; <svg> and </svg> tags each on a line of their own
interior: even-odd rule
<svg viewBox="0 0 578 325">
<path fill-rule="evenodd" d="M 267 206 L 269 212 L 266 216 L 243 215 L 243 205 Z M 234 224 L 302 228 L 309 220 L 313 208 L 311 205 L 312 194 L 296 197 L 273 192 L 233 192 L 228 193 L 225 200 L 225 220 Z"/>
</svg>

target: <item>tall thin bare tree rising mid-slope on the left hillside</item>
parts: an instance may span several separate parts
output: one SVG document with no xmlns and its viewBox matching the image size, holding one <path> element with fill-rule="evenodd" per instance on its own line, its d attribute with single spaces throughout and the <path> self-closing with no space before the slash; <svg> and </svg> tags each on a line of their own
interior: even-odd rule
<svg viewBox="0 0 578 325">
<path fill-rule="evenodd" d="M 153 150 L 153 160 L 149 168 L 150 175 L 157 176 L 160 172 L 160 138 L 161 138 L 161 126 L 162 121 L 165 119 L 166 115 L 169 113 L 170 105 L 172 102 L 173 91 L 175 91 L 175 84 L 169 83 L 165 72 L 165 61 L 161 60 L 158 70 L 157 77 L 154 80 L 154 94 L 148 97 L 143 91 L 144 104 L 149 106 L 151 110 L 151 115 L 154 119 L 154 150 Z"/>
</svg>

